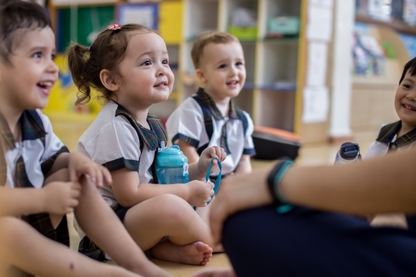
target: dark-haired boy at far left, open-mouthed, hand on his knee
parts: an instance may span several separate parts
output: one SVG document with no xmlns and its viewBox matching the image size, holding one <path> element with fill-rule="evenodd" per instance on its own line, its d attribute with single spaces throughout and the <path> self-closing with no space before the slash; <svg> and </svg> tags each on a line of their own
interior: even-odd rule
<svg viewBox="0 0 416 277">
<path fill-rule="evenodd" d="M 2 1 L 0 37 L 0 276 L 169 276 L 146 259 L 98 193 L 103 179 L 111 184 L 110 173 L 83 154 L 69 154 L 39 110 L 58 78 L 44 8 Z M 68 248 L 72 211 L 90 238 L 130 271 Z M 123 251 L 114 247 L 120 244 Z"/>
</svg>

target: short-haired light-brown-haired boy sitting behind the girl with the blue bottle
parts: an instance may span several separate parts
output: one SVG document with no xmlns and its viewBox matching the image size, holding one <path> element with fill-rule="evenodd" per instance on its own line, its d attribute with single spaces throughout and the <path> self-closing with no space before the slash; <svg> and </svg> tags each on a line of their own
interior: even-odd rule
<svg viewBox="0 0 416 277">
<path fill-rule="evenodd" d="M 189 162 L 198 161 L 205 148 L 220 145 L 227 152 L 223 177 L 250 173 L 250 156 L 255 154 L 250 115 L 236 107 L 232 98 L 245 82 L 243 48 L 229 33 L 206 31 L 196 37 L 192 51 L 196 76 L 202 87 L 184 100 L 166 122 L 168 136 L 180 146 Z M 216 176 L 211 176 L 216 179 Z M 207 208 L 198 214 L 207 222 Z"/>
</svg>

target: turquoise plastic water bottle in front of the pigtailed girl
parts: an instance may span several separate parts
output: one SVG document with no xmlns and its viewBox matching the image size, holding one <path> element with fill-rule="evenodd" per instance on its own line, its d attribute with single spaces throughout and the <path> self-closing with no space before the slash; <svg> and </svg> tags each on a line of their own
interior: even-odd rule
<svg viewBox="0 0 416 277">
<path fill-rule="evenodd" d="M 165 148 L 161 143 L 156 159 L 156 174 L 159 184 L 185 184 L 189 182 L 188 158 L 179 146 Z"/>
</svg>

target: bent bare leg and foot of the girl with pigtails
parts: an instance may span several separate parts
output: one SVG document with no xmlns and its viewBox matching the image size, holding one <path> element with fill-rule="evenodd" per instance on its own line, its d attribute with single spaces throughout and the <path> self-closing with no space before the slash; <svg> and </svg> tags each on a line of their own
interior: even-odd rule
<svg viewBox="0 0 416 277">
<path fill-rule="evenodd" d="M 209 228 L 180 197 L 166 194 L 141 202 L 128 210 L 124 225 L 141 249 L 153 248 L 155 258 L 191 265 L 211 260 Z M 164 237 L 168 240 L 160 242 Z"/>
</svg>

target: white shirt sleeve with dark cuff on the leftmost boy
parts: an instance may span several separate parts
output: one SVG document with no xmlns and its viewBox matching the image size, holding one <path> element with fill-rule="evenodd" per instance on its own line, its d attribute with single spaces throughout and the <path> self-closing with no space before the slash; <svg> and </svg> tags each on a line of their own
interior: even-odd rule
<svg viewBox="0 0 416 277">
<path fill-rule="evenodd" d="M 53 133 L 51 120 L 48 116 L 42 114 L 40 110 L 37 110 L 42 123 L 44 125 L 44 130 L 46 132 L 45 136 L 45 151 L 40 160 L 40 167 L 44 175 L 46 175 L 49 170 L 51 170 L 53 163 L 62 153 L 69 152 L 68 148 L 62 143 L 58 136 Z"/>
</svg>

